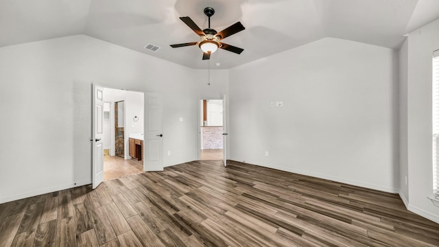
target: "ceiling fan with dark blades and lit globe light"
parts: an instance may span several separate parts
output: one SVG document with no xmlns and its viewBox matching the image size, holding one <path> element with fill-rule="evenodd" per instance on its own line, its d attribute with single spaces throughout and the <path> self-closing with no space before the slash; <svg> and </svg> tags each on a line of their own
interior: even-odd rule
<svg viewBox="0 0 439 247">
<path fill-rule="evenodd" d="M 195 34 L 198 34 L 201 40 L 197 42 L 171 45 L 171 47 L 177 48 L 189 45 L 198 45 L 198 47 L 200 47 L 200 49 L 202 49 L 203 51 L 203 60 L 210 59 L 211 54 L 213 54 L 213 52 L 215 52 L 218 48 L 225 49 L 226 51 L 232 51 L 235 54 L 241 54 L 244 49 L 234 47 L 233 45 L 227 45 L 225 43 L 219 42 L 219 40 L 227 38 L 228 36 L 236 34 L 237 32 L 241 32 L 242 30 L 245 30 L 246 27 L 244 27 L 244 25 L 242 25 L 238 21 L 237 23 L 230 25 L 230 27 L 227 27 L 225 30 L 222 30 L 221 32 L 216 32 L 216 30 L 211 28 L 211 16 L 215 14 L 215 10 L 213 10 L 213 8 L 211 7 L 204 8 L 204 14 L 209 17 L 209 28 L 206 28 L 205 30 L 201 30 L 200 27 L 198 27 L 198 25 L 195 24 L 188 16 L 180 17 L 180 20 L 182 20 L 184 23 L 186 23 L 186 25 L 191 27 L 191 30 L 193 30 Z"/>
</svg>

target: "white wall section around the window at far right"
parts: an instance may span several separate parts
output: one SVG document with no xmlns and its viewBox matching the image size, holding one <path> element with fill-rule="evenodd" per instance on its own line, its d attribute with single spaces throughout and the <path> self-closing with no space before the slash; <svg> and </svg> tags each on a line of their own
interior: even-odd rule
<svg viewBox="0 0 439 247">
<path fill-rule="evenodd" d="M 431 58 L 439 49 L 439 20 L 408 36 L 407 157 L 408 209 L 439 222 L 439 207 L 427 199 L 433 192 L 431 161 Z"/>
</svg>

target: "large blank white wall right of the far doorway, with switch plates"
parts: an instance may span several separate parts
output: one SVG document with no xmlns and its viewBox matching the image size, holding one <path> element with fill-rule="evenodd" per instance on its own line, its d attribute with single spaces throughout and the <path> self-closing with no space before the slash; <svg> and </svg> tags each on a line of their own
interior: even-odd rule
<svg viewBox="0 0 439 247">
<path fill-rule="evenodd" d="M 396 55 L 324 38 L 231 69 L 230 159 L 399 191 Z"/>
</svg>

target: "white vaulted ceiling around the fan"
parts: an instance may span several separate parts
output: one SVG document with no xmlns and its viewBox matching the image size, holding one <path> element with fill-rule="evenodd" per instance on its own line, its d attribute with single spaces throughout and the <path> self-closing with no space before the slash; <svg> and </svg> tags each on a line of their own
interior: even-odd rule
<svg viewBox="0 0 439 247">
<path fill-rule="evenodd" d="M 217 32 L 237 21 L 246 30 L 222 42 L 212 69 L 237 65 L 333 37 L 398 49 L 404 34 L 439 18 L 438 0 L 0 0 L 0 47 L 86 34 L 194 69 L 206 69 L 198 41 L 178 17 L 207 27 L 203 10 L 213 7 Z M 152 43 L 157 52 L 145 49 Z M 216 64 L 219 63 L 219 66 Z"/>
</svg>

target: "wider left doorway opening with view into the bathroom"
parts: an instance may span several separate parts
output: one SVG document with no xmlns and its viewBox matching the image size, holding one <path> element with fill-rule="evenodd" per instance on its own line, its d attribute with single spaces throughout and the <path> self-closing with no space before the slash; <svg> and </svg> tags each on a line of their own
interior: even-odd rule
<svg viewBox="0 0 439 247">
<path fill-rule="evenodd" d="M 129 139 L 143 137 L 144 93 L 104 88 L 104 180 L 143 172 L 130 156 Z M 143 141 L 143 140 L 142 140 Z"/>
</svg>

